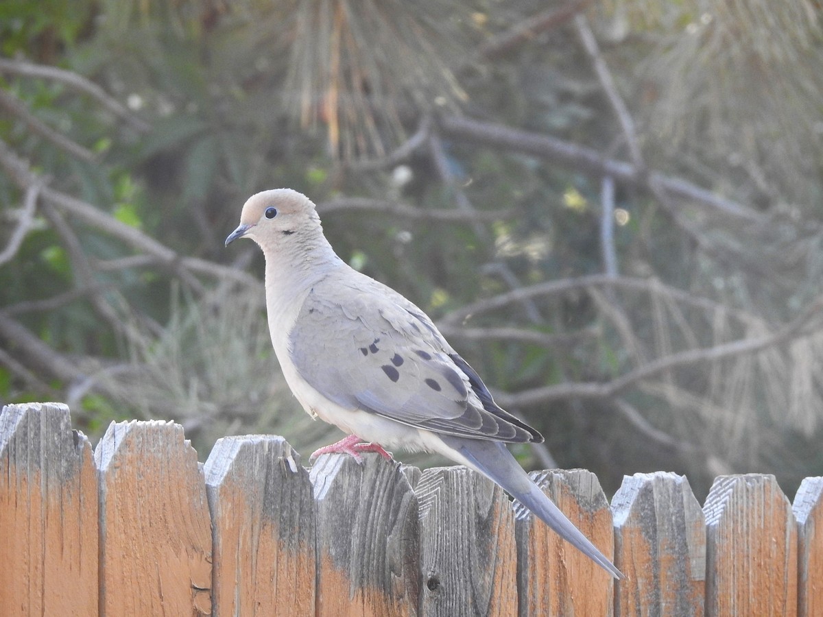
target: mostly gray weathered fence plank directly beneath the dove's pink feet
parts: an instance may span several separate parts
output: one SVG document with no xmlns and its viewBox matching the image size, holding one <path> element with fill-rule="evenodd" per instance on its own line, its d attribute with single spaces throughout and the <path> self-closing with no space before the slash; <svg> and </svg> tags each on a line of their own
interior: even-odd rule
<svg viewBox="0 0 823 617">
<path fill-rule="evenodd" d="M 416 615 L 417 499 L 400 465 L 378 454 L 319 457 L 317 615 Z"/>
</svg>

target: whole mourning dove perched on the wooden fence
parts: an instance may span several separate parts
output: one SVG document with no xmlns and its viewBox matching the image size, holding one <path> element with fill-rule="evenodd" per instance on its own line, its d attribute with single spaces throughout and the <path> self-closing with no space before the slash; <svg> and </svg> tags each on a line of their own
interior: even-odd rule
<svg viewBox="0 0 823 617">
<path fill-rule="evenodd" d="M 308 197 L 289 188 L 249 197 L 226 246 L 238 238 L 263 249 L 268 327 L 291 391 L 349 434 L 319 452 L 438 452 L 491 478 L 622 578 L 505 447 L 542 435 L 495 404 L 420 308 L 337 257 Z"/>
</svg>

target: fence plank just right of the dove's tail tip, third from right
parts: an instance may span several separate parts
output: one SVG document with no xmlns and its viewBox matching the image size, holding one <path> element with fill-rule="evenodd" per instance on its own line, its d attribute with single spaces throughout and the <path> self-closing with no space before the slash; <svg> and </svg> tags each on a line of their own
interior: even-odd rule
<svg viewBox="0 0 823 617">
<path fill-rule="evenodd" d="M 615 614 L 704 614 L 706 528 L 686 476 L 624 476 L 611 500 L 617 583 Z"/>
</svg>

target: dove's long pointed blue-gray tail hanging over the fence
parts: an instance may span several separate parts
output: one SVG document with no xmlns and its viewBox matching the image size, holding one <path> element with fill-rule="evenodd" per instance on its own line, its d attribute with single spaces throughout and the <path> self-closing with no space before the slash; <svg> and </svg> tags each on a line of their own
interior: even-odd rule
<svg viewBox="0 0 823 617">
<path fill-rule="evenodd" d="M 556 531 L 560 537 L 582 551 L 611 576 L 624 578 L 621 571 L 615 568 L 606 555 L 602 554 L 577 527 L 574 527 L 574 523 L 560 512 L 560 508 L 557 508 L 551 499 L 546 497 L 540 487 L 532 482 L 503 443 L 450 435 L 440 435 L 440 438 L 449 448 L 457 450 L 468 462 L 472 463 L 472 467 L 494 480 Z"/>
</svg>

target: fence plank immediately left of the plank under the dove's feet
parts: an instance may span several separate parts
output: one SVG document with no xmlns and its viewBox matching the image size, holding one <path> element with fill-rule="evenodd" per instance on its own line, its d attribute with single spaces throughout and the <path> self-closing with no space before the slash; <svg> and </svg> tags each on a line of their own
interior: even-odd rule
<svg viewBox="0 0 823 617">
<path fill-rule="evenodd" d="M 204 467 L 215 615 L 314 615 L 317 514 L 309 472 L 276 435 L 217 440 Z"/>
</svg>

